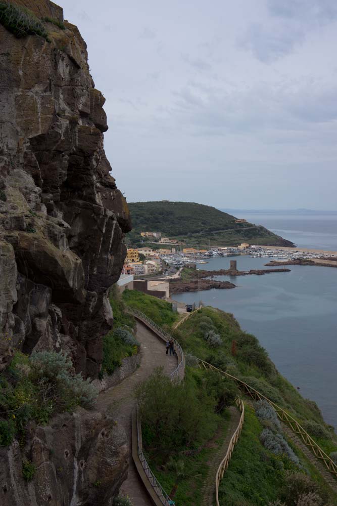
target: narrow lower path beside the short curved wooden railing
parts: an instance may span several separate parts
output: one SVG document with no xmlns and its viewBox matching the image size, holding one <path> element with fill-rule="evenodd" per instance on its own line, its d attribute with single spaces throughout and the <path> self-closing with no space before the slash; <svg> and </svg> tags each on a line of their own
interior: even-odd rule
<svg viewBox="0 0 337 506">
<path fill-rule="evenodd" d="M 227 427 L 226 436 L 222 443 L 218 445 L 218 451 L 212 457 L 212 461 L 209 462 L 209 471 L 207 473 L 205 483 L 203 486 L 203 496 L 205 506 L 214 506 L 215 504 L 215 475 L 220 466 L 223 457 L 226 455 L 229 442 L 236 431 L 236 428 L 240 421 L 241 413 L 235 406 L 230 406 L 230 421 Z M 222 434 L 220 434 L 222 435 Z"/>
</svg>

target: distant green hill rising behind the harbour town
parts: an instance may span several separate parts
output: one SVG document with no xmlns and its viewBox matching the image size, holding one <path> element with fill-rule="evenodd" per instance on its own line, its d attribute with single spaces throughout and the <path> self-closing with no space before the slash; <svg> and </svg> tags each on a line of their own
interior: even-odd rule
<svg viewBox="0 0 337 506">
<path fill-rule="evenodd" d="M 128 203 L 133 230 L 127 235 L 130 244 L 140 243 L 140 232 L 161 232 L 162 236 L 179 239 L 188 245 L 237 245 L 242 242 L 294 246 L 261 225 L 244 222 L 215 207 L 195 202 L 131 202 Z"/>
</svg>

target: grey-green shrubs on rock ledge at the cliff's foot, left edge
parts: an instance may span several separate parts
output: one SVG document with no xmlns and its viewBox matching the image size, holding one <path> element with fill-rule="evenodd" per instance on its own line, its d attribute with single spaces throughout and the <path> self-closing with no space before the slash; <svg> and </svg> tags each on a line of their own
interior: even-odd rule
<svg viewBox="0 0 337 506">
<path fill-rule="evenodd" d="M 46 424 L 56 413 L 90 406 L 97 393 L 63 354 L 43 351 L 28 357 L 16 351 L 0 375 L 0 446 L 14 437 L 24 443 L 29 420 Z"/>
</svg>

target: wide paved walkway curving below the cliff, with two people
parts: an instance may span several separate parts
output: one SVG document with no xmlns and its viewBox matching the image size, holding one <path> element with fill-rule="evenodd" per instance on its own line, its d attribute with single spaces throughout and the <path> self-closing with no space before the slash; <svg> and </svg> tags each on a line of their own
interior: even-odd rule
<svg viewBox="0 0 337 506">
<path fill-rule="evenodd" d="M 128 477 L 120 493 L 128 495 L 135 506 L 151 506 L 151 499 L 138 477 L 131 455 L 131 412 L 135 405 L 134 391 L 151 375 L 156 367 L 163 367 L 165 373 L 172 372 L 178 365 L 177 357 L 166 355 L 165 343 L 142 323 L 137 322 L 137 340 L 140 342 L 140 366 L 119 385 L 99 395 L 97 409 L 108 411 L 125 429 L 128 437 L 130 456 Z"/>
</svg>

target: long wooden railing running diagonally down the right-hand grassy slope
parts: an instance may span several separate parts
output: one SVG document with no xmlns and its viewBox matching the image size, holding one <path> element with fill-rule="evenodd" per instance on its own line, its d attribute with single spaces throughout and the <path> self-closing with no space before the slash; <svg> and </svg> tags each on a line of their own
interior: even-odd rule
<svg viewBox="0 0 337 506">
<path fill-rule="evenodd" d="M 288 426 L 291 427 L 291 429 L 298 434 L 304 444 L 310 448 L 310 450 L 314 453 L 314 455 L 322 460 L 324 462 L 324 465 L 326 469 L 335 477 L 337 478 L 337 465 L 331 460 L 329 455 L 325 453 L 324 450 L 312 439 L 312 437 L 303 429 L 303 427 L 298 423 L 298 421 L 289 413 L 287 413 L 284 409 L 282 409 L 280 406 L 275 404 L 273 401 L 265 397 L 263 394 L 255 390 L 253 387 L 248 385 L 247 383 L 241 381 L 241 379 L 232 376 L 228 372 L 224 372 L 217 367 L 214 367 L 214 365 L 209 364 L 208 362 L 205 362 L 204 360 L 198 359 L 199 361 L 199 367 L 204 367 L 214 369 L 221 374 L 224 374 L 225 376 L 228 376 L 232 378 L 236 384 L 238 385 L 239 389 L 245 394 L 251 397 L 254 401 L 260 401 L 265 400 L 267 401 L 276 411 L 276 414 L 278 418 L 285 424 L 288 424 Z"/>
</svg>

